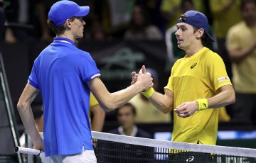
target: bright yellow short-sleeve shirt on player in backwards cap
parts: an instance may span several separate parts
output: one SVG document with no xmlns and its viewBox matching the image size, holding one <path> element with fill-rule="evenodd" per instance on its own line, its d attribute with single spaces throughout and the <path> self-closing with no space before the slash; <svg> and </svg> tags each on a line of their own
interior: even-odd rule
<svg viewBox="0 0 256 163">
<path fill-rule="evenodd" d="M 210 98 L 224 85 L 232 85 L 225 64 L 215 52 L 203 47 L 191 57 L 176 61 L 164 89 L 174 93 L 174 108 L 183 102 Z M 215 145 L 218 131 L 218 109 L 196 111 L 188 118 L 174 112 L 172 141 Z"/>
</svg>

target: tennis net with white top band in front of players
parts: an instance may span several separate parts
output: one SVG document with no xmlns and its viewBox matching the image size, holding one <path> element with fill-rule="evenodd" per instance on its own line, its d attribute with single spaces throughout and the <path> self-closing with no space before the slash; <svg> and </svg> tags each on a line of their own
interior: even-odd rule
<svg viewBox="0 0 256 163">
<path fill-rule="evenodd" d="M 98 132 L 92 132 L 92 138 L 98 163 L 256 163 L 255 149 L 168 142 Z"/>
</svg>

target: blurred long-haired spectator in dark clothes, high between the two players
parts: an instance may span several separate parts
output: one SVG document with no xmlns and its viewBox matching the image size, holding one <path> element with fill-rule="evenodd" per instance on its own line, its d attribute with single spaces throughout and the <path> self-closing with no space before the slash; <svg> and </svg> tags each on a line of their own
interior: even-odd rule
<svg viewBox="0 0 256 163">
<path fill-rule="evenodd" d="M 159 28 L 151 25 L 148 16 L 141 6 L 134 6 L 132 19 L 128 30 L 124 33 L 124 39 L 127 40 L 161 40 L 163 35 Z"/>
</svg>

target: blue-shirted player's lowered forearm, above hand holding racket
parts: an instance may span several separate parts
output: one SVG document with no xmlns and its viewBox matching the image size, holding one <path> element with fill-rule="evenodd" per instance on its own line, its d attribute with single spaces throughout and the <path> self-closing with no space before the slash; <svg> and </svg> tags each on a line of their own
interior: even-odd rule
<svg viewBox="0 0 256 163">
<path fill-rule="evenodd" d="M 38 133 L 38 130 L 36 129 L 36 124 L 33 118 L 31 106 L 27 105 L 26 103 L 18 103 L 17 108 L 18 113 L 21 116 L 23 125 L 26 128 L 28 135 L 30 135 L 33 144 L 43 141 Z"/>
</svg>

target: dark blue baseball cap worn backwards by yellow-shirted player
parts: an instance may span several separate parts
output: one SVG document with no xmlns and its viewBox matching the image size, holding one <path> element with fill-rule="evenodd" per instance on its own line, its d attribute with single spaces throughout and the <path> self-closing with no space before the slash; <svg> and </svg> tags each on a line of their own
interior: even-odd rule
<svg viewBox="0 0 256 163">
<path fill-rule="evenodd" d="M 186 11 L 186 13 L 181 15 L 181 18 L 178 18 L 178 23 L 188 23 L 191 26 L 194 26 L 196 28 L 203 28 L 204 32 L 210 38 L 211 42 L 215 42 L 213 37 L 208 33 L 208 19 L 205 14 L 199 12 L 199 11 Z"/>
</svg>

